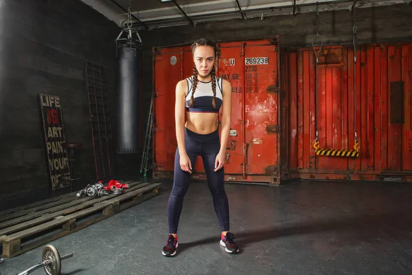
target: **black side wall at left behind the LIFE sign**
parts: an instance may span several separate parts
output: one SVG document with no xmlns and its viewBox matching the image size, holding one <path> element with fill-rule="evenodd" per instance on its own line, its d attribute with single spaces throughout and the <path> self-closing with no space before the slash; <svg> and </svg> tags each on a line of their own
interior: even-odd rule
<svg viewBox="0 0 412 275">
<path fill-rule="evenodd" d="M 60 96 L 67 141 L 84 144 L 93 178 L 84 61 L 113 74 L 120 29 L 79 0 L 2 1 L 0 14 L 0 197 L 49 186 L 38 94 Z"/>
</svg>

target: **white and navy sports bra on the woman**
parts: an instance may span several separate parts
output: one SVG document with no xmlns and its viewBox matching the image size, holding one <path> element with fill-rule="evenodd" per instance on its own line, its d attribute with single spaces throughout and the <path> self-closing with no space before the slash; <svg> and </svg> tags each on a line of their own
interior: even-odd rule
<svg viewBox="0 0 412 275">
<path fill-rule="evenodd" d="M 194 91 L 193 106 L 190 107 L 190 98 L 192 98 L 193 76 L 186 78 L 187 93 L 186 93 L 186 110 L 196 113 L 218 113 L 222 106 L 222 85 L 223 79 L 216 77 L 216 109 L 213 109 L 211 100 L 213 100 L 213 91 L 211 89 L 211 80 L 202 82 L 198 80 L 196 91 Z"/>
</svg>

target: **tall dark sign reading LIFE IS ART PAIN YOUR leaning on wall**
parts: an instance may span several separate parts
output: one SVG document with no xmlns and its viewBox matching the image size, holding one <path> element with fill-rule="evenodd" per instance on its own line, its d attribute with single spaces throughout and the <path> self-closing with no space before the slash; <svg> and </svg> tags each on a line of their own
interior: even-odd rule
<svg viewBox="0 0 412 275">
<path fill-rule="evenodd" d="M 63 148 L 66 136 L 60 98 L 46 94 L 39 94 L 39 96 L 47 155 L 47 170 L 49 171 L 52 190 L 58 190 L 70 186 L 69 181 L 64 180 L 70 175 L 70 169 L 67 162 L 67 150 Z"/>
</svg>

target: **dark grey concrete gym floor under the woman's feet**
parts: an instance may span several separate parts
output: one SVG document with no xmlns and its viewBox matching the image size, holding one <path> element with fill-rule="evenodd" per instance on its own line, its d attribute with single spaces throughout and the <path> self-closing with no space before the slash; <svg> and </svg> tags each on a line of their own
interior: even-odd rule
<svg viewBox="0 0 412 275">
<path fill-rule="evenodd" d="M 204 183 L 192 183 L 174 258 L 163 194 L 52 244 L 62 274 L 412 274 L 412 185 L 297 181 L 280 187 L 227 184 L 231 230 L 240 254 L 227 254 Z M 16 274 L 41 248 L 0 265 Z M 37 270 L 32 274 L 45 274 Z"/>
</svg>

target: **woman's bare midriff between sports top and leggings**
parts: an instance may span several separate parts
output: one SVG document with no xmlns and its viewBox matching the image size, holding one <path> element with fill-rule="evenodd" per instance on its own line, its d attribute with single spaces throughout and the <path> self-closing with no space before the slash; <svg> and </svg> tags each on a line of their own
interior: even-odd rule
<svg viewBox="0 0 412 275">
<path fill-rule="evenodd" d="M 194 133 L 207 135 L 218 129 L 217 113 L 190 113 L 186 112 L 185 127 Z"/>
</svg>

